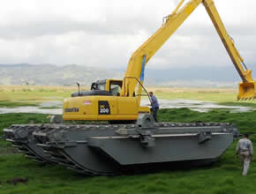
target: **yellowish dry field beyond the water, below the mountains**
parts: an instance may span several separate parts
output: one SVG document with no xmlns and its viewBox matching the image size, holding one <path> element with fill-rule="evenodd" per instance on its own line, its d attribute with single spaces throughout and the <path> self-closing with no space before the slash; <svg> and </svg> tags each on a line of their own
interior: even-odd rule
<svg viewBox="0 0 256 194">
<path fill-rule="evenodd" d="M 81 87 L 87 90 L 88 87 Z M 63 101 L 77 92 L 77 86 L 0 86 L 0 108 L 39 106 L 43 101 Z M 214 101 L 228 106 L 256 108 L 256 101 L 237 101 L 237 89 L 233 88 L 147 88 L 159 99 Z M 146 98 L 145 98 L 146 99 Z"/>
</svg>

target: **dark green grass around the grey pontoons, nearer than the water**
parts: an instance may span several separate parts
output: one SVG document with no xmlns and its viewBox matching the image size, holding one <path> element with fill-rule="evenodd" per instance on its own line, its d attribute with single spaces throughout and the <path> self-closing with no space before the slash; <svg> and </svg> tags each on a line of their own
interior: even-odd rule
<svg viewBox="0 0 256 194">
<path fill-rule="evenodd" d="M 256 111 L 248 113 L 230 113 L 227 110 L 214 110 L 199 113 L 187 108 L 161 109 L 159 119 L 172 122 L 232 122 L 241 132 L 249 132 L 252 142 L 256 142 Z M 40 114 L 4 114 L 0 115 L 0 129 L 11 123 L 47 123 L 46 115 Z M 3 134 L 3 133 L 1 133 Z M 256 166 L 252 162 L 249 175 L 241 175 L 240 161 L 234 157 L 237 142 L 234 142 L 214 165 L 203 168 L 165 170 L 143 175 L 122 175 L 117 177 L 88 177 L 71 170 L 56 166 L 42 165 L 26 159 L 19 153 L 0 154 L 0 193 L 1 194 L 240 194 L 255 193 Z M 255 143 L 254 143 L 255 145 Z M 0 140 L 2 150 L 10 144 Z M 0 149 L 0 152 L 1 152 Z M 177 148 L 178 149 L 178 148 Z M 168 152 L 168 151 L 167 151 Z M 14 177 L 28 178 L 28 183 L 6 183 Z"/>
</svg>

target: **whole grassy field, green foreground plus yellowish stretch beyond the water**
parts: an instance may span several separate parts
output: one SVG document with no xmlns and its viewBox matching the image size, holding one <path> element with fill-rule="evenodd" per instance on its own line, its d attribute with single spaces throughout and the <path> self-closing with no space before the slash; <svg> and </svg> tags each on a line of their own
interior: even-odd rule
<svg viewBox="0 0 256 194">
<path fill-rule="evenodd" d="M 39 106 L 44 101 L 63 101 L 77 90 L 76 86 L 0 86 L 0 107 Z M 215 101 L 228 106 L 256 107 L 255 101 L 236 101 L 236 89 L 147 88 L 147 90 L 154 91 L 159 99 Z M 236 123 L 241 132 L 250 133 L 252 141 L 256 142 L 256 111 L 230 113 L 228 110 L 216 109 L 208 113 L 199 113 L 187 108 L 161 109 L 159 118 L 161 121 L 172 122 Z M 34 123 L 49 122 L 47 115 L 41 114 L 0 115 L 0 136 L 3 136 L 4 127 L 13 123 L 30 123 L 31 120 L 34 120 Z M 240 161 L 234 157 L 236 143 L 234 142 L 220 160 L 210 167 L 171 169 L 142 175 L 88 177 L 56 165 L 43 165 L 28 160 L 17 153 L 10 143 L 0 139 L 0 194 L 255 193 L 253 183 L 256 181 L 256 165 L 252 162 L 249 175 L 246 177 L 241 175 Z M 28 182 L 17 185 L 6 183 L 16 177 L 26 178 Z"/>
</svg>

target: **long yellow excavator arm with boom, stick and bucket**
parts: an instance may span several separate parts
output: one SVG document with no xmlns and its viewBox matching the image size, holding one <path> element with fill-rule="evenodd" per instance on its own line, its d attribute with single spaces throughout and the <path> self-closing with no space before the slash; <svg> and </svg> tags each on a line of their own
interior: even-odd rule
<svg viewBox="0 0 256 194">
<path fill-rule="evenodd" d="M 215 8 L 213 0 L 190 0 L 187 4 L 184 4 L 184 0 L 181 0 L 179 4 L 177 4 L 177 8 L 168 17 L 166 17 L 165 22 L 156 31 L 156 33 L 133 53 L 124 75 L 124 84 L 121 96 L 134 95 L 136 86 L 139 82 L 137 94 L 138 104 L 140 104 L 141 85 L 144 81 L 144 70 L 147 62 L 201 3 L 204 4 L 209 17 L 212 19 L 215 29 L 224 44 L 224 47 L 227 49 L 239 76 L 243 80 L 243 83 L 239 84 L 237 99 L 256 98 L 256 82 L 252 79 L 252 71 L 247 70 L 243 58 L 239 55 L 237 48 L 235 48 L 233 41 L 222 24 L 222 19 Z M 182 4 L 184 4 L 183 7 L 181 7 Z M 245 67 L 245 70 L 243 66 Z"/>
</svg>

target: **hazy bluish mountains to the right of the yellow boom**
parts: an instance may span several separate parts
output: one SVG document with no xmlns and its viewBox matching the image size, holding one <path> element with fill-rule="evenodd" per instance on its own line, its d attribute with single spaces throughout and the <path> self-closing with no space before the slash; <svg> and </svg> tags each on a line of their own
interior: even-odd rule
<svg viewBox="0 0 256 194">
<path fill-rule="evenodd" d="M 250 65 L 256 79 L 256 65 Z M 234 66 L 193 66 L 164 70 L 146 70 L 146 79 L 154 78 L 158 86 L 237 87 L 241 82 Z"/>
</svg>

